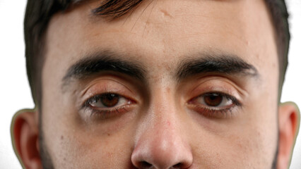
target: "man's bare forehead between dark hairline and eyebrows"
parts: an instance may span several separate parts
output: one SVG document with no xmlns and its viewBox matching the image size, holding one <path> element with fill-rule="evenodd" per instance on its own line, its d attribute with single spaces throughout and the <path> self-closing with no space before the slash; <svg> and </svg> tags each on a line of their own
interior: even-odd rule
<svg viewBox="0 0 301 169">
<path fill-rule="evenodd" d="M 44 70 L 57 65 L 66 72 L 98 50 L 118 51 L 165 68 L 206 51 L 235 54 L 261 71 L 273 68 L 277 73 L 272 23 L 262 0 L 143 1 L 116 20 L 93 15 L 99 4 L 76 6 L 52 18 Z"/>
</svg>

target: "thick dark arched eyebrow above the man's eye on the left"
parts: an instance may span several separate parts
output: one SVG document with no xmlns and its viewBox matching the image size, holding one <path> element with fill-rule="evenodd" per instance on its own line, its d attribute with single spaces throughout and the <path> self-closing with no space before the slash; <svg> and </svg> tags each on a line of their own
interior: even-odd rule
<svg viewBox="0 0 301 169">
<path fill-rule="evenodd" d="M 141 64 L 134 61 L 126 61 L 122 58 L 126 58 L 126 56 L 115 54 L 110 51 L 100 51 L 89 54 L 71 65 L 62 79 L 62 86 L 68 84 L 71 79 L 83 80 L 86 77 L 104 71 L 129 75 L 130 77 L 144 82 L 146 71 Z"/>
</svg>

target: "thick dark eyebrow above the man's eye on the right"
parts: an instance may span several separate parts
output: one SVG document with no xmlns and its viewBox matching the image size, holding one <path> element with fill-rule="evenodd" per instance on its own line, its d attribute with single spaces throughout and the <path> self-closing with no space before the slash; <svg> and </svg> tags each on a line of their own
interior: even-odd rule
<svg viewBox="0 0 301 169">
<path fill-rule="evenodd" d="M 243 61 L 242 58 L 229 54 L 206 54 L 199 58 L 184 59 L 177 69 L 177 79 L 182 81 L 187 77 L 203 73 L 218 73 L 226 75 L 247 75 L 259 77 L 258 70 Z"/>
</svg>

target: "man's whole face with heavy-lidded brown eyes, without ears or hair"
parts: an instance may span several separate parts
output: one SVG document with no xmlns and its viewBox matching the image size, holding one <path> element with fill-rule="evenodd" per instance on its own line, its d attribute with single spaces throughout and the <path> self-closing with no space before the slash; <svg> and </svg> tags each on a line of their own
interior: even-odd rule
<svg viewBox="0 0 301 169">
<path fill-rule="evenodd" d="M 143 1 L 112 21 L 91 14 L 99 4 L 47 30 L 55 168 L 272 167 L 278 59 L 264 1 Z"/>
</svg>

